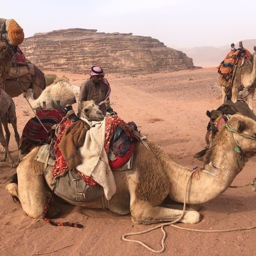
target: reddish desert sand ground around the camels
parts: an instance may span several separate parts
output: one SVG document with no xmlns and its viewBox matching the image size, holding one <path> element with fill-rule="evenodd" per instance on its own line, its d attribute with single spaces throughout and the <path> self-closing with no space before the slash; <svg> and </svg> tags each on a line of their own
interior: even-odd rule
<svg viewBox="0 0 256 256">
<path fill-rule="evenodd" d="M 62 75 L 56 73 L 58 76 Z M 75 85 L 88 75 L 66 74 Z M 206 110 L 221 103 L 216 86 L 216 68 L 185 70 L 129 77 L 107 74 L 113 109 L 126 122 L 133 120 L 143 135 L 160 145 L 172 160 L 193 168 L 193 154 L 205 146 L 208 118 Z M 22 96 L 14 98 L 18 130 L 33 116 Z M 255 102 L 254 102 L 255 106 Z M 256 107 L 256 106 L 255 106 Z M 15 162 L 18 151 L 11 130 L 10 150 Z M 196 162 L 200 166 L 200 162 Z M 233 185 L 255 178 L 256 157 L 246 164 Z M 8 162 L 0 163 L 0 255 L 153 255 L 141 245 L 122 241 L 122 235 L 149 229 L 154 225 L 134 225 L 130 216 L 116 216 L 109 211 L 59 204 L 57 221 L 82 223 L 84 229 L 54 227 L 31 219 L 14 203 L 5 190 L 15 173 Z M 201 222 L 178 226 L 202 230 L 223 230 L 255 226 L 256 198 L 250 187 L 228 189 L 200 210 Z M 163 255 L 255 255 L 256 229 L 229 233 L 196 233 L 165 227 L 166 251 Z M 160 229 L 131 239 L 141 240 L 154 249 L 161 248 Z M 68 246 L 68 247 L 66 247 Z"/>
</svg>

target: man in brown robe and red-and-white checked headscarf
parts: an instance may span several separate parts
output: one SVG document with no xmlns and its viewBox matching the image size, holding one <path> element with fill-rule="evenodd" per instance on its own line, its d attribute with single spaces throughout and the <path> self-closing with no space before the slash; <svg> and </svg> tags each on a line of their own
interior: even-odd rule
<svg viewBox="0 0 256 256">
<path fill-rule="evenodd" d="M 99 105 L 102 114 L 105 116 L 106 112 L 112 112 L 110 107 L 110 84 L 106 78 L 101 67 L 93 66 L 90 69 L 90 78 L 85 81 L 79 92 L 78 100 L 94 100 L 95 104 Z M 80 111 L 80 110 L 78 110 Z"/>
</svg>

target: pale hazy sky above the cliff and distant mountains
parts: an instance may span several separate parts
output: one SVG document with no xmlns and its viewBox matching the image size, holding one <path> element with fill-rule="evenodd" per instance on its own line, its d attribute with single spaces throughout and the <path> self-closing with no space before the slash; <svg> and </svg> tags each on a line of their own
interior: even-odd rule
<svg viewBox="0 0 256 256">
<path fill-rule="evenodd" d="M 58 29 L 133 33 L 172 48 L 215 46 L 256 38 L 256 0 L 1 1 L 25 37 Z"/>
</svg>

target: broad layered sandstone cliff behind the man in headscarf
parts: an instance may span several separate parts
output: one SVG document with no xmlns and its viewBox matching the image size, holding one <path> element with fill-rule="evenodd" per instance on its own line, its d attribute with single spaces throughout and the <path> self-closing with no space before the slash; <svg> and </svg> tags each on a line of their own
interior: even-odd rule
<svg viewBox="0 0 256 256">
<path fill-rule="evenodd" d="M 97 65 L 106 73 L 145 74 L 196 68 L 185 53 L 132 33 L 55 30 L 25 38 L 20 48 L 42 71 L 84 74 Z"/>
</svg>

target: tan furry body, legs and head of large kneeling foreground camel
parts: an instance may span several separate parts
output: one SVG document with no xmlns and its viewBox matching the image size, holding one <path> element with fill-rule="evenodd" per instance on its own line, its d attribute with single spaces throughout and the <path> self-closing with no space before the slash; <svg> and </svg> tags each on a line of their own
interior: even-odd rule
<svg viewBox="0 0 256 256">
<path fill-rule="evenodd" d="M 110 211 L 119 215 L 131 213 L 131 220 L 138 224 L 171 222 L 178 219 L 182 211 L 174 209 L 172 205 L 162 204 L 167 198 L 183 202 L 187 183 L 188 204 L 197 205 L 218 197 L 230 186 L 249 157 L 256 154 L 256 122 L 241 114 L 235 114 L 228 123 L 239 133 L 252 136 L 253 139 L 233 133 L 235 142 L 241 148 L 241 153 L 237 153 L 234 151 L 231 132 L 222 126 L 214 138 L 214 145 L 207 154 L 204 167 L 199 169 L 200 179 L 191 178 L 189 183 L 192 169 L 170 160 L 162 149 L 151 141 L 146 141 L 151 150 L 141 142 L 136 142 L 131 170 L 113 171 L 117 190 L 109 201 Z M 37 152 L 38 148 L 35 148 L 19 164 L 18 184 L 10 183 L 6 186 L 12 196 L 19 198 L 23 210 L 32 218 L 42 217 L 47 201 L 42 174 L 43 164 L 34 160 Z M 104 209 L 101 198 L 90 203 L 69 203 Z M 200 213 L 185 211 L 179 221 L 198 223 Z"/>
</svg>

